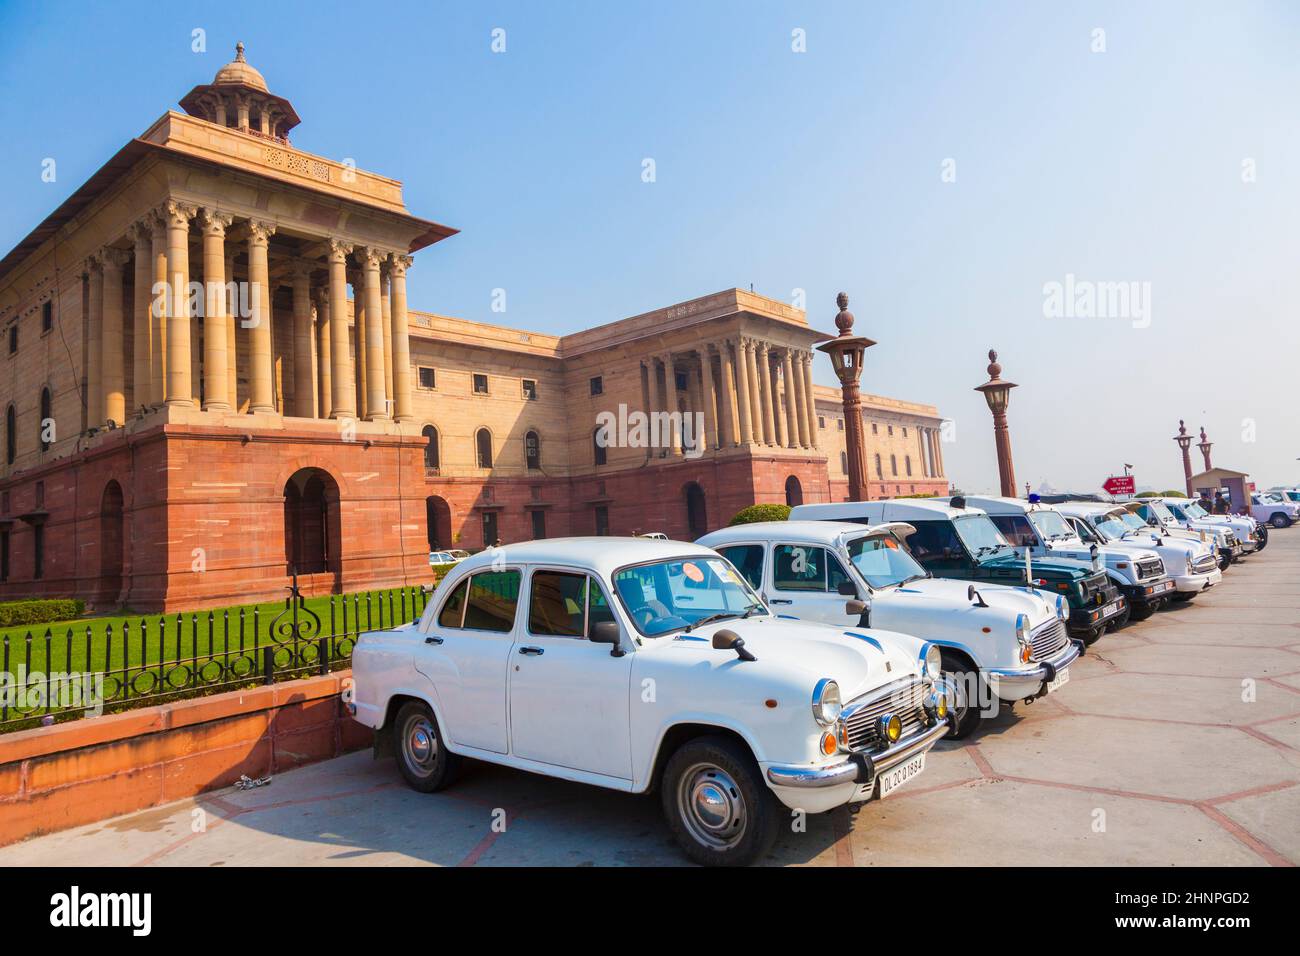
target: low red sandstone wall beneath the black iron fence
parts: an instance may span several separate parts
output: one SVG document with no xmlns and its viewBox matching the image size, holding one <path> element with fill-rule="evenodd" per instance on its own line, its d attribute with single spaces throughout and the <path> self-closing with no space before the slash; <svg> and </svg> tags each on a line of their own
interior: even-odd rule
<svg viewBox="0 0 1300 956">
<path fill-rule="evenodd" d="M 351 671 L 0 736 L 0 845 L 369 747 Z"/>
</svg>

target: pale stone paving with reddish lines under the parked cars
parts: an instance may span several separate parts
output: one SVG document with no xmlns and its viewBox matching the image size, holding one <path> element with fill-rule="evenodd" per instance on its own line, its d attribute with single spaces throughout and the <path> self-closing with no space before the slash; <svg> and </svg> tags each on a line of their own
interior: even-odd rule
<svg viewBox="0 0 1300 956">
<path fill-rule="evenodd" d="M 681 862 L 654 799 L 486 765 L 422 796 L 369 753 L 0 848 L 0 865 Z M 1105 636 L 1058 693 L 940 744 L 915 786 L 810 818 L 771 862 L 1300 862 L 1300 527 Z"/>
</svg>

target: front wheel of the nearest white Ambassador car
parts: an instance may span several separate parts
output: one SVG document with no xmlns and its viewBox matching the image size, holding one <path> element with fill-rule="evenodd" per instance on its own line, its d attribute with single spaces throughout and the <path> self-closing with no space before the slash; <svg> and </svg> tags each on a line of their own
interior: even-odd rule
<svg viewBox="0 0 1300 956">
<path fill-rule="evenodd" d="M 688 740 L 660 787 L 673 839 L 701 866 L 749 866 L 776 842 L 781 803 L 748 748 L 724 736 Z"/>
</svg>

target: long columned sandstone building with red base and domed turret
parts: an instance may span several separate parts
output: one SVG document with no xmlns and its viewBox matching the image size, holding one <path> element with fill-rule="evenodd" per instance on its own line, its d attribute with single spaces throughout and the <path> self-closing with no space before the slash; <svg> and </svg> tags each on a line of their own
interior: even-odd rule
<svg viewBox="0 0 1300 956">
<path fill-rule="evenodd" d="M 290 144 L 242 48 L 181 107 L 0 260 L 0 596 L 351 591 L 426 580 L 434 545 L 844 496 L 802 311 L 733 289 L 555 337 L 411 310 L 454 229 Z M 937 411 L 863 406 L 879 490 L 945 490 Z"/>
</svg>

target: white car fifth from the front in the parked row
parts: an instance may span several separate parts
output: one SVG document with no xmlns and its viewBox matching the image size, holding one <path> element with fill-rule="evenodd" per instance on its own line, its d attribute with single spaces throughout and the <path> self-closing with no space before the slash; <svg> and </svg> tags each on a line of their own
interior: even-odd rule
<svg viewBox="0 0 1300 956">
<path fill-rule="evenodd" d="M 1218 557 L 1209 541 L 1174 537 L 1152 528 L 1121 505 L 1066 501 L 1056 506 L 1078 531 L 1084 544 L 1135 546 L 1160 555 L 1174 581 L 1174 601 L 1191 601 L 1223 580 Z"/>
</svg>

